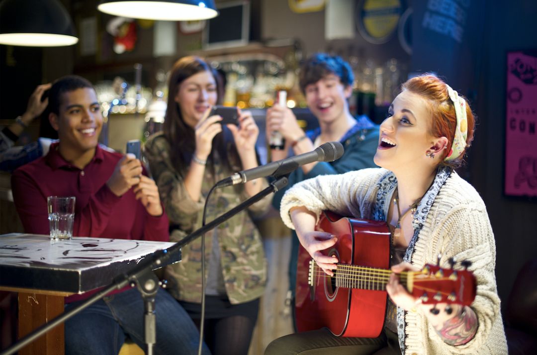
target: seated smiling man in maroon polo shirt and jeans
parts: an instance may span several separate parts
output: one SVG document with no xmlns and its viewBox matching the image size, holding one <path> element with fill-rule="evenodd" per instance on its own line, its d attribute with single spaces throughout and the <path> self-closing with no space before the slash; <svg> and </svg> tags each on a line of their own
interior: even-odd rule
<svg viewBox="0 0 537 355">
<path fill-rule="evenodd" d="M 103 116 L 91 83 L 78 76 L 58 79 L 49 105 L 59 142 L 46 156 L 17 169 L 11 180 L 25 231 L 48 234 L 47 197 L 71 195 L 76 197 L 75 236 L 169 241 L 157 186 L 140 161 L 98 146 Z M 66 309 L 90 294 L 68 297 Z M 155 353 L 195 353 L 199 333 L 183 308 L 162 289 L 155 303 Z M 66 321 L 66 354 L 117 354 L 127 335 L 143 348 L 143 313 L 137 289 L 106 296 Z"/>
</svg>

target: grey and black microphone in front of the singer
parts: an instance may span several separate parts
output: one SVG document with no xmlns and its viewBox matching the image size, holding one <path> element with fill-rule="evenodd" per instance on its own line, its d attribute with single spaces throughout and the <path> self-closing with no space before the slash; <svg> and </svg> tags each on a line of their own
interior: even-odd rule
<svg viewBox="0 0 537 355">
<path fill-rule="evenodd" d="M 216 183 L 217 187 L 243 184 L 260 177 L 274 176 L 280 177 L 296 170 L 299 166 L 313 162 L 333 162 L 343 155 L 343 144 L 339 142 L 327 142 L 317 147 L 313 151 L 295 155 L 279 161 L 271 162 L 256 168 L 242 170 L 234 173 L 228 178 Z"/>
</svg>

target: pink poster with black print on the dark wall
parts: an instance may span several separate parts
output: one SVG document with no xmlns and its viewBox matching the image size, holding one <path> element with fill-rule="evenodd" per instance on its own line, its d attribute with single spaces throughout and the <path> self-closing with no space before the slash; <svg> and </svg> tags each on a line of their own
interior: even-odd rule
<svg viewBox="0 0 537 355">
<path fill-rule="evenodd" d="M 505 194 L 537 196 L 537 51 L 507 54 Z"/>
</svg>

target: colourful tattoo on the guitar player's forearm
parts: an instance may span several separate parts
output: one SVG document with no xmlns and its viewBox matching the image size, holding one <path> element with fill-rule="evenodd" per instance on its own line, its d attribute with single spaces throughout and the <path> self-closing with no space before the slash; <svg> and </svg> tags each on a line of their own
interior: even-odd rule
<svg viewBox="0 0 537 355">
<path fill-rule="evenodd" d="M 444 322 L 438 335 L 446 344 L 457 346 L 468 343 L 477 332 L 477 316 L 474 311 L 465 306 L 461 312 Z"/>
</svg>

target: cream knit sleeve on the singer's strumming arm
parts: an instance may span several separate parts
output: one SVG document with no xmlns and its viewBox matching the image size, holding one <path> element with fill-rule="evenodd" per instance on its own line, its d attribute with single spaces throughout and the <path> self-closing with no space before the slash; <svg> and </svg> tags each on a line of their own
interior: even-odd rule
<svg viewBox="0 0 537 355">
<path fill-rule="evenodd" d="M 289 189 L 281 200 L 280 215 L 287 227 L 293 228 L 289 211 L 305 206 L 316 214 L 329 210 L 343 216 L 360 216 L 360 201 L 374 185 L 383 169 L 362 169 L 341 175 L 322 175 L 304 180 Z"/>
</svg>

